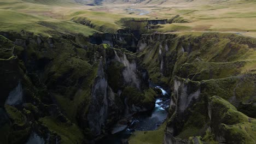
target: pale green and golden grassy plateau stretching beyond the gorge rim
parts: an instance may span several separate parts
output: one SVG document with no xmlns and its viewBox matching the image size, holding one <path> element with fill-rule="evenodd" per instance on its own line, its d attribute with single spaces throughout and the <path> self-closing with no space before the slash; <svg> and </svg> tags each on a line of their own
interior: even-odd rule
<svg viewBox="0 0 256 144">
<path fill-rule="evenodd" d="M 108 1 L 107 1 L 108 2 Z M 256 1 L 147 1 L 132 4 L 103 3 L 88 6 L 65 1 L 9 0 L 0 1 L 1 31 L 31 31 L 49 34 L 48 31 L 83 33 L 90 35 L 96 30 L 74 23 L 74 17 L 86 17 L 97 27 L 108 27 L 102 32 L 114 33 L 122 28 L 122 17 L 148 17 L 170 19 L 180 15 L 189 23 L 161 25 L 159 32 L 232 32 L 256 37 Z M 161 4 L 162 3 L 162 4 Z M 131 10 L 136 9 L 136 10 Z M 138 10 L 148 11 L 145 15 Z M 43 21 L 43 22 L 42 22 Z M 42 23 L 46 23 L 42 25 Z"/>
</svg>

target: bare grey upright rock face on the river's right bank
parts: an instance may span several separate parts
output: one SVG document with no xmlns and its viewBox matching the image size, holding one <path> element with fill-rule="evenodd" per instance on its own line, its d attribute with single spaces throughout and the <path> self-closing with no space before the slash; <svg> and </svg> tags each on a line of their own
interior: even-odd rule
<svg viewBox="0 0 256 144">
<path fill-rule="evenodd" d="M 188 121 L 190 107 L 200 97 L 200 83 L 175 77 L 173 93 L 170 103 L 170 115 L 172 115 L 172 118 L 167 124 L 164 141 L 168 144 L 188 143 L 187 140 L 178 139 L 175 136 L 181 133 L 184 121 Z"/>
</svg>

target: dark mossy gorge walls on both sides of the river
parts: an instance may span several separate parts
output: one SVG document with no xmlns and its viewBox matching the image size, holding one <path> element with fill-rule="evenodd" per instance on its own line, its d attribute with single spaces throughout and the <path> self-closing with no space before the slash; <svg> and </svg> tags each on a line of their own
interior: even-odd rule
<svg viewBox="0 0 256 144">
<path fill-rule="evenodd" d="M 255 142 L 254 38 L 139 25 L 89 38 L 1 32 L 0 44 L 3 142 L 95 143 L 154 110 L 162 94 L 150 83 L 170 89 L 165 144 Z"/>
</svg>

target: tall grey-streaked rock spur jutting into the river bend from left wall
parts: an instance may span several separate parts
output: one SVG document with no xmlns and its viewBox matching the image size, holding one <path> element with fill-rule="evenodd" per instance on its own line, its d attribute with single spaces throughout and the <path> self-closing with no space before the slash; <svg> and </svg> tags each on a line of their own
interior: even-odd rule
<svg viewBox="0 0 256 144">
<path fill-rule="evenodd" d="M 87 115 L 89 129 L 94 136 L 102 134 L 102 129 L 112 127 L 124 115 L 151 109 L 150 101 L 144 104 L 133 99 L 132 95 L 124 95 L 135 91 L 139 99 L 146 99 L 143 91 L 149 88 L 147 71 L 138 68 L 134 56 L 127 58 L 131 55 L 129 53 L 113 49 L 106 52 L 98 64 Z"/>
</svg>

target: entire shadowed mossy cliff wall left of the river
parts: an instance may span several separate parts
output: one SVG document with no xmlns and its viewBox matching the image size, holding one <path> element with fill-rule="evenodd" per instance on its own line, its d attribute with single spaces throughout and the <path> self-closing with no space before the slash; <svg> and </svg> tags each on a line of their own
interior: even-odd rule
<svg viewBox="0 0 256 144">
<path fill-rule="evenodd" d="M 129 51 L 82 34 L 0 34 L 4 143 L 90 143 L 123 116 L 154 107 L 147 70 Z"/>
</svg>

